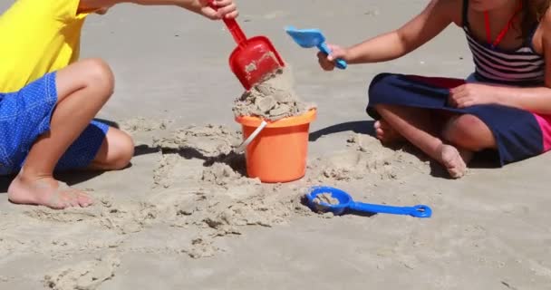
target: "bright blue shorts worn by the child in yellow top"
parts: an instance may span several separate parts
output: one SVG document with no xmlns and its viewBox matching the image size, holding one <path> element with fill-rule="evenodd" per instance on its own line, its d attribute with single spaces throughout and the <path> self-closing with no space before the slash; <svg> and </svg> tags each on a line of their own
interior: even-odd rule
<svg viewBox="0 0 551 290">
<path fill-rule="evenodd" d="M 0 175 L 17 173 L 34 141 L 50 130 L 57 102 L 56 73 L 48 73 L 17 92 L 0 93 Z M 109 126 L 92 121 L 55 169 L 83 169 L 94 160 Z"/>
</svg>

